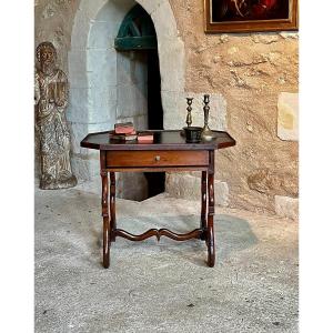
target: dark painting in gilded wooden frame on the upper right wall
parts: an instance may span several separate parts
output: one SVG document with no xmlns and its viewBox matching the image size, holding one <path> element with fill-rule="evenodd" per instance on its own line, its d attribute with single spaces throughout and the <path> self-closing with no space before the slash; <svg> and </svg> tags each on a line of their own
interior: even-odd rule
<svg viewBox="0 0 333 333">
<path fill-rule="evenodd" d="M 299 29 L 297 0 L 204 0 L 205 32 Z"/>
</svg>

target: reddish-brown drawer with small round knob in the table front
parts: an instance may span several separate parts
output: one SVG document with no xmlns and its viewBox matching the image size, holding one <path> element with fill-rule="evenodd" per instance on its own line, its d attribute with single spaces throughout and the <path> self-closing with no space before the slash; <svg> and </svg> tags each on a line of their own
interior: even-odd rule
<svg viewBox="0 0 333 333">
<path fill-rule="evenodd" d="M 208 165 L 208 151 L 109 151 L 107 168 Z"/>
</svg>

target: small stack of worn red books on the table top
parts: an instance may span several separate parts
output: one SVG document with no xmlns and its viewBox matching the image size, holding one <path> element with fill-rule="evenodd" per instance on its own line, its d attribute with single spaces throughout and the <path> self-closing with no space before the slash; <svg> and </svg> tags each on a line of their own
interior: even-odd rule
<svg viewBox="0 0 333 333">
<path fill-rule="evenodd" d="M 132 122 L 122 122 L 114 124 L 114 130 L 110 132 L 111 140 L 118 141 L 138 141 L 138 143 L 153 143 L 154 135 L 152 132 L 137 133 Z"/>
</svg>

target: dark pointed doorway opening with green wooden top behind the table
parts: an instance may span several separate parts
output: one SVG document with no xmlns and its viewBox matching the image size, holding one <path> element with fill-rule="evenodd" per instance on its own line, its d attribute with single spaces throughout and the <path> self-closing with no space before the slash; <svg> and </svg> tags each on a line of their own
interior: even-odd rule
<svg viewBox="0 0 333 333">
<path fill-rule="evenodd" d="M 121 59 L 119 61 L 120 71 L 123 70 L 122 67 L 125 67 L 124 62 L 127 61 L 135 59 L 141 62 L 137 65 L 143 71 L 143 75 L 140 78 L 142 82 L 137 81 L 132 83 L 139 87 L 143 85 L 145 91 L 147 101 L 143 101 L 143 103 L 147 103 L 147 122 L 144 129 L 138 130 L 163 130 L 158 38 L 151 17 L 140 4 L 135 4 L 123 19 L 114 39 L 114 48 L 119 52 L 118 57 Z M 128 58 L 130 60 L 127 60 Z M 123 74 L 125 75 L 125 73 Z M 127 89 L 131 89 L 131 87 Z M 133 112 L 134 114 L 135 111 Z M 142 200 L 164 192 L 165 172 L 145 172 L 144 178 L 147 183 L 143 186 L 147 186 L 147 189 L 142 189 Z M 137 194 L 137 196 L 140 195 Z"/>
</svg>

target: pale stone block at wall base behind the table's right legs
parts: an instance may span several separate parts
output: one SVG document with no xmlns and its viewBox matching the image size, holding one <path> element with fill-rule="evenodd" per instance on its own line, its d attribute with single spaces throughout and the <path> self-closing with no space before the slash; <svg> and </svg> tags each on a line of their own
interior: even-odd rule
<svg viewBox="0 0 333 333">
<path fill-rule="evenodd" d="M 201 178 L 190 174 L 167 173 L 165 192 L 186 200 L 201 200 Z M 225 182 L 214 182 L 215 204 L 229 205 L 229 186 Z"/>
</svg>

